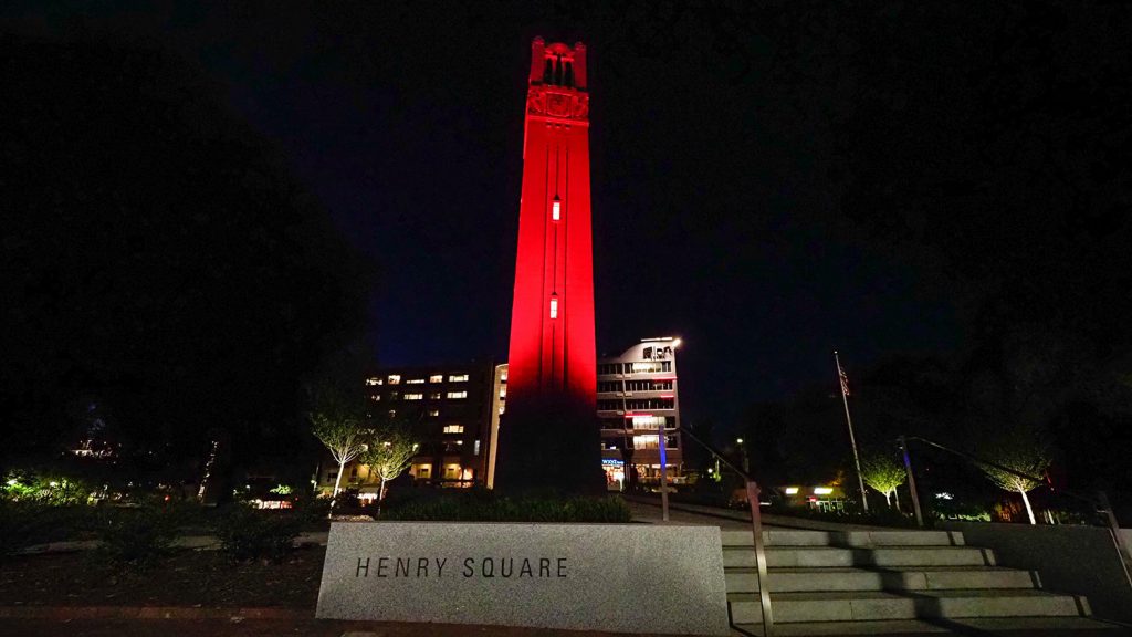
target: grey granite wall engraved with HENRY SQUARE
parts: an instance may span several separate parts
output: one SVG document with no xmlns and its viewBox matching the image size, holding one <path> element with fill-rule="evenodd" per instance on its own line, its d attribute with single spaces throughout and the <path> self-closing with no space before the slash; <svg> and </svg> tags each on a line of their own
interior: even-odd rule
<svg viewBox="0 0 1132 637">
<path fill-rule="evenodd" d="M 727 635 L 719 528 L 335 523 L 316 617 Z"/>
</svg>

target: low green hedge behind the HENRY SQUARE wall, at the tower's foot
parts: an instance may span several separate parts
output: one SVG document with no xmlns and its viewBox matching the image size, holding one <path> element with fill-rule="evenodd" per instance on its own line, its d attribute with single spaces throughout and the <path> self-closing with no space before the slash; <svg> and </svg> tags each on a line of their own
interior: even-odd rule
<svg viewBox="0 0 1132 637">
<path fill-rule="evenodd" d="M 627 523 L 620 498 L 490 498 L 470 493 L 419 499 L 386 507 L 388 520 Z"/>
</svg>

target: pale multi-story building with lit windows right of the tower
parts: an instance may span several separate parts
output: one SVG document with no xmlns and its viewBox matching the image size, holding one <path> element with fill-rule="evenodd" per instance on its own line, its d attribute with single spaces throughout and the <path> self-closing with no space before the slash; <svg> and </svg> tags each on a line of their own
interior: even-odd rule
<svg viewBox="0 0 1132 637">
<path fill-rule="evenodd" d="M 598 360 L 601 464 L 610 490 L 624 490 L 634 472 L 641 485 L 659 484 L 661 443 L 669 479 L 681 479 L 679 345 L 671 337 L 643 339 L 620 356 Z"/>
</svg>

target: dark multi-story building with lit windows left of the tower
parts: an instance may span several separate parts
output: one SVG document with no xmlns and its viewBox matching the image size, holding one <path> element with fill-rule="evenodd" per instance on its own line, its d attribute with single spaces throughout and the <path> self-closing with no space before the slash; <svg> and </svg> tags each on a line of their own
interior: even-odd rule
<svg viewBox="0 0 1132 637">
<path fill-rule="evenodd" d="M 420 452 L 409 468 L 414 481 L 441 486 L 487 482 L 491 425 L 498 422 L 496 370 L 489 360 L 391 367 L 367 375 L 370 417 L 406 422 L 420 441 Z M 337 469 L 333 462 L 323 462 L 320 489 L 334 487 Z M 342 485 L 367 496 L 376 493 L 378 481 L 369 467 L 351 462 Z"/>
</svg>

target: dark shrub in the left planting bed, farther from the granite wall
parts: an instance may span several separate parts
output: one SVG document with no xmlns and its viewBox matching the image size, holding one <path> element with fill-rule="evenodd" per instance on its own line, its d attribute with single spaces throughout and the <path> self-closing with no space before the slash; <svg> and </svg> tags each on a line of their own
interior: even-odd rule
<svg viewBox="0 0 1132 637">
<path fill-rule="evenodd" d="M 115 564 L 153 567 L 172 551 L 182 518 L 182 511 L 170 506 L 104 509 L 96 525 L 97 552 Z"/>
</svg>

